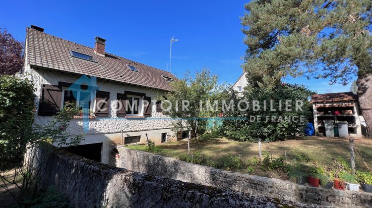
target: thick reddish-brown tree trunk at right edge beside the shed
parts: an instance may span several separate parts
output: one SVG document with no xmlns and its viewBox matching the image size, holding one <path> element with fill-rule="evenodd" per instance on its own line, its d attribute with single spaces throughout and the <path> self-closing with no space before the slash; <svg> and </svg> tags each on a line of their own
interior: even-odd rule
<svg viewBox="0 0 372 208">
<path fill-rule="evenodd" d="M 367 124 L 367 136 L 372 138 L 372 73 L 358 76 L 357 86 L 359 106 Z"/>
</svg>

